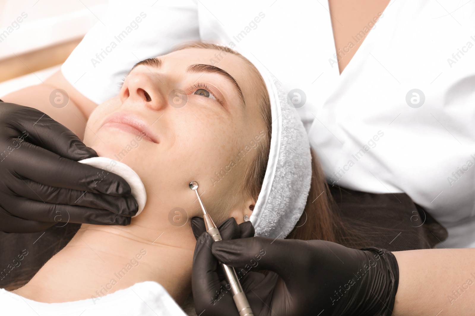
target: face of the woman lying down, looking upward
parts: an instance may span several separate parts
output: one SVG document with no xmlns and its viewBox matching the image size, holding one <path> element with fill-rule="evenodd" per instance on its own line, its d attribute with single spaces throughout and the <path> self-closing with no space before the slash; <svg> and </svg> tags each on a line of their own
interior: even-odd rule
<svg viewBox="0 0 475 316">
<path fill-rule="evenodd" d="M 84 142 L 139 174 L 147 190 L 144 213 L 152 207 L 174 215 L 182 208 L 198 216 L 188 187 L 197 181 L 207 209 L 226 218 L 248 207 L 243 174 L 269 136 L 256 87 L 257 75 L 234 54 L 189 48 L 160 56 L 135 66 L 119 95 L 95 109 Z"/>
</svg>

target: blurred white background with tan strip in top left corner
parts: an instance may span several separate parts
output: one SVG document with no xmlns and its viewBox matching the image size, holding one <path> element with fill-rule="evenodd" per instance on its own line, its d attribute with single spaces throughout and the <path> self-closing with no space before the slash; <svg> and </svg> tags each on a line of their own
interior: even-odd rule
<svg viewBox="0 0 475 316">
<path fill-rule="evenodd" d="M 106 9 L 107 0 L 0 0 L 0 96 L 57 71 Z"/>
</svg>

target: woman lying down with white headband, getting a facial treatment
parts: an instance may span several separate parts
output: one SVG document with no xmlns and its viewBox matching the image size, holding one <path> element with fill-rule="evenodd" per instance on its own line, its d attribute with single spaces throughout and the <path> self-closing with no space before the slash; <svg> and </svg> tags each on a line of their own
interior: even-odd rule
<svg viewBox="0 0 475 316">
<path fill-rule="evenodd" d="M 228 48 L 196 43 L 137 63 L 91 114 L 84 143 L 137 172 L 145 208 L 129 226 L 83 224 L 26 285 L 1 289 L 2 314 L 184 315 L 196 244 L 186 218 L 202 215 L 190 181 L 217 224 L 250 217 L 256 235 L 344 237 L 295 109 Z"/>
</svg>

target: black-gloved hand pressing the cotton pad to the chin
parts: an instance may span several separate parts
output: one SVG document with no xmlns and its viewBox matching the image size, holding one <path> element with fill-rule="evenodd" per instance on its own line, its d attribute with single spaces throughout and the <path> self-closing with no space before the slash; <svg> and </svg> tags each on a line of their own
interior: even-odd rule
<svg viewBox="0 0 475 316">
<path fill-rule="evenodd" d="M 0 102 L 0 231 L 33 233 L 67 222 L 129 225 L 138 210 L 130 186 L 76 162 L 91 157 L 97 153 L 43 112 Z"/>
</svg>

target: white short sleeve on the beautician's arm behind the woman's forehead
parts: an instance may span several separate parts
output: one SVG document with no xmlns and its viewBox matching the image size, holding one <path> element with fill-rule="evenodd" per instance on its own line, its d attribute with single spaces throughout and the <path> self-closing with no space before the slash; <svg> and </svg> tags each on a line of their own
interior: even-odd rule
<svg viewBox="0 0 475 316">
<path fill-rule="evenodd" d="M 84 36 L 61 72 L 97 104 L 117 95 L 132 66 L 199 40 L 194 0 L 109 0 L 100 20 Z"/>
</svg>

